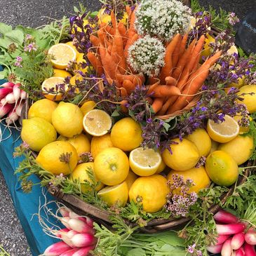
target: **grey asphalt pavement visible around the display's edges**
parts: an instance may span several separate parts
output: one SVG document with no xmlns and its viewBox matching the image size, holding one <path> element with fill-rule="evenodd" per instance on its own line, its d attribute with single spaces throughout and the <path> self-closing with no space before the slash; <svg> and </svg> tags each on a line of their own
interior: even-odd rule
<svg viewBox="0 0 256 256">
<path fill-rule="evenodd" d="M 21 24 L 39 27 L 52 19 L 58 20 L 63 15 L 69 17 L 74 13 L 73 6 L 79 6 L 79 2 L 87 6 L 90 11 L 100 8 L 100 2 L 97 0 L 0 0 L 0 22 L 13 26 Z M 241 20 L 246 13 L 253 10 L 256 15 L 256 0 L 199 0 L 199 2 L 206 9 L 210 4 L 217 10 L 223 8 L 225 11 L 234 12 Z M 0 198 L 0 245 L 4 245 L 12 256 L 30 256 L 25 235 L 15 215 L 1 172 Z"/>
</svg>

